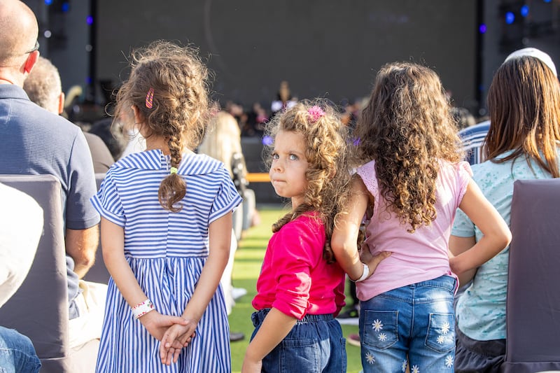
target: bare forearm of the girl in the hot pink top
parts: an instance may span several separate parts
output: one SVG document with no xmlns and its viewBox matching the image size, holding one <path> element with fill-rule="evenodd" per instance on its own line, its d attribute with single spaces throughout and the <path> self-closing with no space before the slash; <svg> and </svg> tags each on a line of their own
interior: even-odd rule
<svg viewBox="0 0 560 373">
<path fill-rule="evenodd" d="M 297 318 L 283 314 L 278 309 L 270 309 L 255 338 L 245 351 L 241 372 L 260 372 L 262 359 L 282 342 L 296 322 Z"/>
</svg>

